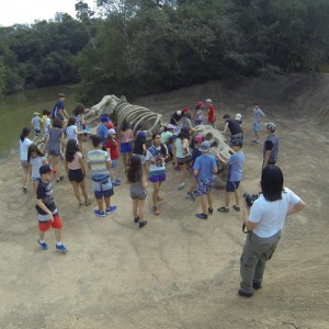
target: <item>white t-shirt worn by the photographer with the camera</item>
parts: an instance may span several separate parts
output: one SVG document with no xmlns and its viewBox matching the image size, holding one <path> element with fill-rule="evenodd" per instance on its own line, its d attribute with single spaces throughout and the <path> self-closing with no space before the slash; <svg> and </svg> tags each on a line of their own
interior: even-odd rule
<svg viewBox="0 0 329 329">
<path fill-rule="evenodd" d="M 270 202 L 261 194 L 250 208 L 249 222 L 258 223 L 253 232 L 260 238 L 273 237 L 282 229 L 290 206 L 299 201 L 299 196 L 287 188 L 282 192 L 282 200 Z"/>
</svg>

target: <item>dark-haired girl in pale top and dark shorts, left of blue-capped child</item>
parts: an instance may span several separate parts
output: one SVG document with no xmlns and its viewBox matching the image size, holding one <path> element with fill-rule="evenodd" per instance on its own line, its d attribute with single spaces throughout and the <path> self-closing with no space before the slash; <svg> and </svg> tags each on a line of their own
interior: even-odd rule
<svg viewBox="0 0 329 329">
<path fill-rule="evenodd" d="M 178 190 L 182 190 L 185 186 L 184 180 L 188 172 L 188 164 L 192 161 L 189 144 L 189 131 L 182 129 L 178 135 L 178 138 L 174 140 L 177 163 L 180 167 L 180 180 Z"/>
</svg>

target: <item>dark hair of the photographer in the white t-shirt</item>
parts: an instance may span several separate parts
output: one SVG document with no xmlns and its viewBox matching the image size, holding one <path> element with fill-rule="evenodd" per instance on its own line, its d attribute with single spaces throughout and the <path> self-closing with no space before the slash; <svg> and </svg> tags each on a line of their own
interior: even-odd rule
<svg viewBox="0 0 329 329">
<path fill-rule="evenodd" d="M 261 188 L 266 201 L 272 202 L 282 198 L 283 173 L 277 166 L 269 164 L 263 169 Z"/>
</svg>

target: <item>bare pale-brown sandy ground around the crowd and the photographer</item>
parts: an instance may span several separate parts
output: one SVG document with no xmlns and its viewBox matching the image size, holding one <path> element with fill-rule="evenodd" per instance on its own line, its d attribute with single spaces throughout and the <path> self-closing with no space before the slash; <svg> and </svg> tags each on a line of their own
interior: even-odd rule
<svg viewBox="0 0 329 329">
<path fill-rule="evenodd" d="M 0 328 L 329 328 L 329 78 L 293 76 L 225 86 L 207 82 L 135 103 L 164 118 L 208 97 L 218 118 L 241 112 L 247 157 L 241 188 L 251 193 L 259 191 L 262 157 L 262 146 L 250 143 L 252 102 L 259 100 L 268 120 L 277 124 L 277 164 L 285 185 L 307 207 L 288 218 L 263 288 L 252 298 L 237 295 L 246 238 L 241 214 L 231 209 L 215 212 L 208 220 L 195 218 L 201 205 L 174 189 L 178 175 L 171 164 L 161 214 L 151 215 L 148 198 L 149 224 L 143 229 L 133 224 L 128 185 L 115 189 L 112 204 L 118 211 L 98 218 L 94 201 L 79 208 L 69 182 L 54 182 L 70 252 L 55 251 L 52 231 L 46 236 L 50 248 L 42 251 L 35 197 L 21 193 L 15 156 L 0 167 Z M 88 184 L 91 194 L 90 175 Z M 224 191 L 215 190 L 214 198 L 215 207 L 222 206 Z"/>
</svg>

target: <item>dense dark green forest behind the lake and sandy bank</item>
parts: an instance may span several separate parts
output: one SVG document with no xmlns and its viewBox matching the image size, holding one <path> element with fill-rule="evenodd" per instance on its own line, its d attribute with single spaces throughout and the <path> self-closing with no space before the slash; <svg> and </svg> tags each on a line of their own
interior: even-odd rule
<svg viewBox="0 0 329 329">
<path fill-rule="evenodd" d="M 76 18 L 0 27 L 0 97 L 78 84 L 81 102 L 207 80 L 329 70 L 328 0 L 77 1 Z"/>
</svg>

